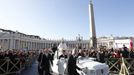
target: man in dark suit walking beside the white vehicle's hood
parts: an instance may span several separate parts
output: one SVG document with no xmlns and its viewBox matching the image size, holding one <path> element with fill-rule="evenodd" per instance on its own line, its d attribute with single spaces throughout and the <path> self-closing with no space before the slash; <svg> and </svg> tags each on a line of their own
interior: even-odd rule
<svg viewBox="0 0 134 75">
<path fill-rule="evenodd" d="M 75 50 L 75 52 L 73 52 L 70 56 L 69 56 L 69 59 L 68 59 L 68 63 L 67 63 L 67 75 L 80 75 L 78 72 L 77 72 L 77 69 L 78 70 L 81 70 L 81 68 L 79 68 L 77 65 L 76 65 L 76 60 L 77 60 L 77 52 Z"/>
</svg>

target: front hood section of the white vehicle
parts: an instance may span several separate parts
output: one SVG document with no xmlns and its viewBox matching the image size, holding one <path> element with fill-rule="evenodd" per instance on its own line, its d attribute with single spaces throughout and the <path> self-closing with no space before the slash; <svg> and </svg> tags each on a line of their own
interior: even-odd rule
<svg viewBox="0 0 134 75">
<path fill-rule="evenodd" d="M 77 65 L 84 68 L 83 72 L 81 72 L 84 73 L 83 75 L 108 75 L 109 73 L 108 65 L 94 61 L 92 58 L 79 59 L 79 63 Z"/>
</svg>

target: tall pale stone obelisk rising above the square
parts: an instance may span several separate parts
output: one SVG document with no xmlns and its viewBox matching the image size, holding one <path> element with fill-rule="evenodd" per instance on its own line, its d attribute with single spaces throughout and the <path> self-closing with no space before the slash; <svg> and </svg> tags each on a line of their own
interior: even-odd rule
<svg viewBox="0 0 134 75">
<path fill-rule="evenodd" d="M 96 49 L 97 39 L 96 39 L 94 10 L 93 10 L 92 0 L 90 0 L 90 4 L 89 4 L 89 22 L 90 22 L 90 47 Z"/>
</svg>

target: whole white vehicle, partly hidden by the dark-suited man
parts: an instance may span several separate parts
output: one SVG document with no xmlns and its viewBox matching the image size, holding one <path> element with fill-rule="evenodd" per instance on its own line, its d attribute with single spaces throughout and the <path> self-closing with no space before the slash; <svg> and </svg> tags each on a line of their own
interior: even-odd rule
<svg viewBox="0 0 134 75">
<path fill-rule="evenodd" d="M 53 72 L 66 75 L 65 68 L 67 64 L 67 59 L 61 58 L 57 59 L 57 53 L 55 54 L 55 59 L 53 61 Z M 77 66 L 82 68 L 82 71 L 78 71 L 80 75 L 109 75 L 109 67 L 105 63 L 99 63 L 94 61 L 94 58 L 80 57 L 77 60 Z"/>
</svg>

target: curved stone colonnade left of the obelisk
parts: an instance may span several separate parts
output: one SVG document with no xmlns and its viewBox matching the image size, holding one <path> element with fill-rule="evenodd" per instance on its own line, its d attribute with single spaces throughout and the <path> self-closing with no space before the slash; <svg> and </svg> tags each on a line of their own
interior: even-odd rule
<svg viewBox="0 0 134 75">
<path fill-rule="evenodd" d="M 47 40 L 35 35 L 26 35 L 17 31 L 0 29 L 0 48 L 2 50 L 39 50 L 42 48 L 51 48 L 53 44 L 57 46 L 61 40 Z M 89 49 L 89 40 L 64 40 L 69 49 L 81 46 Z"/>
</svg>

